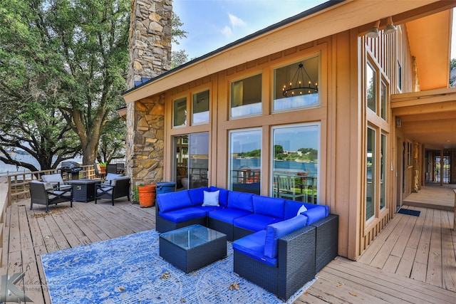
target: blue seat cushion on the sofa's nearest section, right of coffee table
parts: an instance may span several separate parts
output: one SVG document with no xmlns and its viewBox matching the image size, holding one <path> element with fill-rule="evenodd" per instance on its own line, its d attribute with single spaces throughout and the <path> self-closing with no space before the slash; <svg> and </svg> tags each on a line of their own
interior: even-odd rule
<svg viewBox="0 0 456 304">
<path fill-rule="evenodd" d="M 233 242 L 233 250 L 253 258 L 254 260 L 265 263 L 268 266 L 276 267 L 277 258 L 264 256 L 264 240 L 266 239 L 266 230 L 261 230 L 244 236 L 242 239 Z"/>
</svg>

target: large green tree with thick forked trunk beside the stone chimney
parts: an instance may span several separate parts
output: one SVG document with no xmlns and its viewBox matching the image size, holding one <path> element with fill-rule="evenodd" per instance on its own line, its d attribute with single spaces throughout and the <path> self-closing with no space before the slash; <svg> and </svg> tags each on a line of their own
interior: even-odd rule
<svg viewBox="0 0 456 304">
<path fill-rule="evenodd" d="M 14 103 L 16 90 L 31 88 L 21 100 L 60 112 L 79 139 L 83 164 L 95 161 L 110 113 L 123 105 L 130 5 L 130 0 L 3 0 L 1 6 L 1 55 L 7 56 L 1 56 L 0 73 L 19 67 L 13 80 L 1 84 L 2 103 Z"/>
</svg>

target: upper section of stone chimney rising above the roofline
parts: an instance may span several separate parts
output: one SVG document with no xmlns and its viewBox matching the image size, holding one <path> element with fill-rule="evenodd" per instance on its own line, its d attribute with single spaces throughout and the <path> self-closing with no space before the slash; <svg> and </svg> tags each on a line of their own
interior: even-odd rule
<svg viewBox="0 0 456 304">
<path fill-rule="evenodd" d="M 128 89 L 171 68 L 172 0 L 133 0 Z"/>
</svg>

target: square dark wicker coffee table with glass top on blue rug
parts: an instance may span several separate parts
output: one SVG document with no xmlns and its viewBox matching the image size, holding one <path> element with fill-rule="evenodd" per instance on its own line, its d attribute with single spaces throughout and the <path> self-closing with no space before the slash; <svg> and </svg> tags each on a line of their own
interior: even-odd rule
<svg viewBox="0 0 456 304">
<path fill-rule="evenodd" d="M 201 225 L 160 234 L 160 256 L 185 273 L 227 256 L 227 236 Z"/>
</svg>

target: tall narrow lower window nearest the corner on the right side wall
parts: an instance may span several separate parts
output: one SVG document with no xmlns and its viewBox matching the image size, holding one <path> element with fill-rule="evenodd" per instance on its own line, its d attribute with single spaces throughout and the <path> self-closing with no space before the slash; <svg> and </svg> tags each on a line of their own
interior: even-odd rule
<svg viewBox="0 0 456 304">
<path fill-rule="evenodd" d="M 375 215 L 375 130 L 368 127 L 366 147 L 366 221 Z"/>
</svg>

